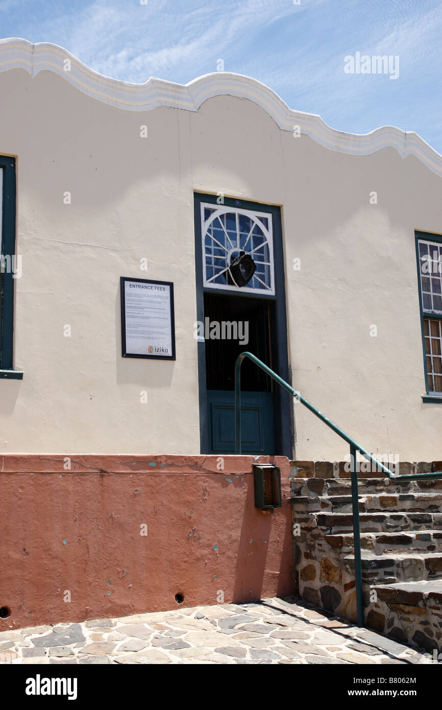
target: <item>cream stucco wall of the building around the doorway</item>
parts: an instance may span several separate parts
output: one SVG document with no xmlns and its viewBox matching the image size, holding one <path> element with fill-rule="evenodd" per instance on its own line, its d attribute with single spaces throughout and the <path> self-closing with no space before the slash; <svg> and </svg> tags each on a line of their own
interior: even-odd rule
<svg viewBox="0 0 442 710">
<path fill-rule="evenodd" d="M 197 190 L 282 207 L 294 387 L 372 452 L 442 459 L 442 406 L 421 400 L 414 251 L 414 229 L 442 233 L 434 170 L 394 148 L 350 155 L 295 138 L 227 94 L 198 111 L 133 111 L 23 69 L 0 73 L 0 92 L 23 256 L 15 368 L 24 376 L 0 381 L 4 452 L 199 452 Z M 121 358 L 121 275 L 175 283 L 175 362 Z M 298 459 L 347 454 L 299 404 L 295 422 Z"/>
</svg>

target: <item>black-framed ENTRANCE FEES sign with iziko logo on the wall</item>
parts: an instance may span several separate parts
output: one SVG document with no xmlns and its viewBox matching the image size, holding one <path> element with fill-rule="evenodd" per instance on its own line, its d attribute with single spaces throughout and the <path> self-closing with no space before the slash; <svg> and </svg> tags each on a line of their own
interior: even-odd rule
<svg viewBox="0 0 442 710">
<path fill-rule="evenodd" d="M 121 276 L 121 354 L 175 360 L 173 283 Z"/>
</svg>

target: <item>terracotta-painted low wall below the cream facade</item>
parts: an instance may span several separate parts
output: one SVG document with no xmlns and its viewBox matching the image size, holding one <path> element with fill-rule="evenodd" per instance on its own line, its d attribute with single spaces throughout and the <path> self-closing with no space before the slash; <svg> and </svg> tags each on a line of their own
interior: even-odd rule
<svg viewBox="0 0 442 710">
<path fill-rule="evenodd" d="M 0 630 L 292 593 L 287 459 L 66 459 L 0 457 Z M 255 461 L 280 466 L 273 513 Z"/>
</svg>

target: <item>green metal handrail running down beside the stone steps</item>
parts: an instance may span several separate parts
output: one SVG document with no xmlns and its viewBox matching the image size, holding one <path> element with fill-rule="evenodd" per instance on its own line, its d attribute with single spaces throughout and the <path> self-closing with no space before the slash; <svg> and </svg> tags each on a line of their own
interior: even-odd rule
<svg viewBox="0 0 442 710">
<path fill-rule="evenodd" d="M 381 464 L 377 461 L 375 457 L 372 456 L 366 449 L 358 444 L 355 439 L 348 436 L 340 427 L 334 424 L 328 417 L 324 416 L 319 410 L 316 409 L 312 404 L 310 404 L 302 395 L 299 394 L 294 388 L 292 388 L 287 382 L 285 382 L 277 373 L 270 370 L 258 359 L 255 355 L 249 352 L 241 353 L 238 356 L 235 364 L 235 454 L 241 454 L 241 364 L 243 359 L 248 358 L 253 361 L 255 365 L 261 368 L 268 376 L 275 380 L 284 390 L 294 395 L 297 400 L 309 409 L 316 417 L 324 422 L 333 432 L 336 432 L 341 439 L 344 439 L 348 444 L 350 444 L 350 474 L 351 474 L 351 504 L 353 510 L 353 546 L 355 555 L 355 584 L 356 584 L 356 609 L 358 613 L 358 626 L 364 626 L 364 606 L 363 606 L 363 582 L 362 582 L 362 564 L 360 555 L 360 521 L 359 521 L 359 494 L 358 494 L 358 471 L 356 470 L 356 452 L 360 452 L 365 459 L 371 461 L 373 464 L 378 466 L 378 470 L 388 476 L 389 479 L 394 479 L 394 481 L 419 481 L 426 479 L 442 479 L 442 471 L 435 471 L 432 474 L 406 474 L 404 476 L 397 476 L 392 471 L 390 471 L 387 466 Z"/>
</svg>

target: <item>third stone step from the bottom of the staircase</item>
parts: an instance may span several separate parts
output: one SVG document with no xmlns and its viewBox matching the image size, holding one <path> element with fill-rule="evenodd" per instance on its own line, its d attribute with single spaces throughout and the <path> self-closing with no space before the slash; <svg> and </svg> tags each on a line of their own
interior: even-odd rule
<svg viewBox="0 0 442 710">
<path fill-rule="evenodd" d="M 351 532 L 325 535 L 324 540 L 333 550 L 341 550 L 343 554 L 354 550 Z M 442 552 L 442 531 L 363 532 L 360 535 L 360 547 L 374 555 L 388 555 L 389 552 Z"/>
</svg>

